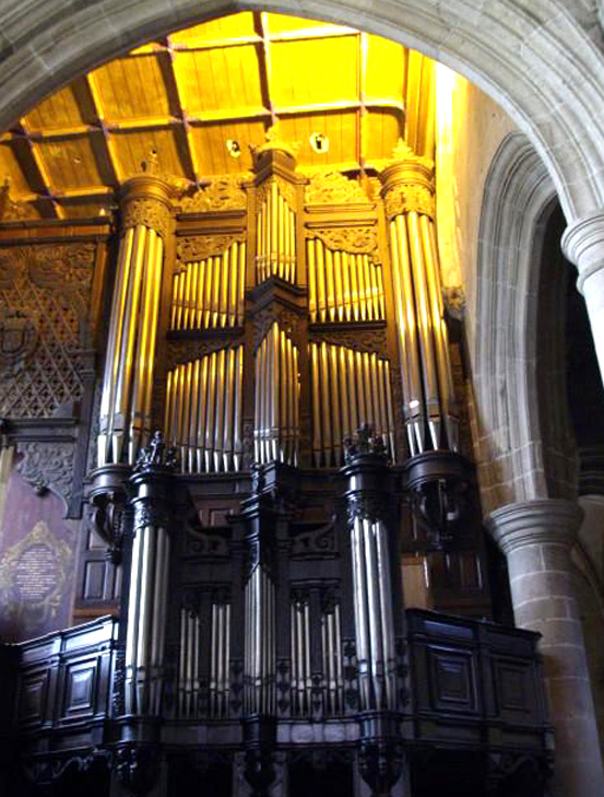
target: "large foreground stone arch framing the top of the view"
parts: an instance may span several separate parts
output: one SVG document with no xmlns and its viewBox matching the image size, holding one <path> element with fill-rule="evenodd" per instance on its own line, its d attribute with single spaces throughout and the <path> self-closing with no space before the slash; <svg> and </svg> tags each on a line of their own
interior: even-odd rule
<svg viewBox="0 0 604 797">
<path fill-rule="evenodd" d="M 596 9 L 568 0 L 265 0 L 362 27 L 458 70 L 502 105 L 543 159 L 568 221 L 604 206 L 604 57 Z M 9 0 L 0 33 L 0 129 L 34 103 L 149 38 L 257 0 Z M 581 16 L 579 20 L 578 17 Z M 592 19 L 593 17 L 593 19 Z"/>
</svg>

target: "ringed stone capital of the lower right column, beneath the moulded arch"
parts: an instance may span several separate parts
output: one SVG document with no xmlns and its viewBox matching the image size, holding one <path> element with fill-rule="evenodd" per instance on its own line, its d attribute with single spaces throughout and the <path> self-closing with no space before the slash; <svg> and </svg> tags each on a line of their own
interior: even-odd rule
<svg viewBox="0 0 604 797">
<path fill-rule="evenodd" d="M 555 543 L 571 548 L 583 513 L 564 499 L 542 499 L 508 504 L 486 518 L 486 527 L 507 555 L 523 546 Z"/>
</svg>

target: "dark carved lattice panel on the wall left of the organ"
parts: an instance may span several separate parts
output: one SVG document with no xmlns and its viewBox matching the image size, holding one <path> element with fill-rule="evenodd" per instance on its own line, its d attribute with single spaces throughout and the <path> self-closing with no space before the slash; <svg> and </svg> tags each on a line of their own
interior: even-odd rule
<svg viewBox="0 0 604 797">
<path fill-rule="evenodd" d="M 82 396 L 95 244 L 0 249 L 0 414 L 51 415 Z"/>
</svg>

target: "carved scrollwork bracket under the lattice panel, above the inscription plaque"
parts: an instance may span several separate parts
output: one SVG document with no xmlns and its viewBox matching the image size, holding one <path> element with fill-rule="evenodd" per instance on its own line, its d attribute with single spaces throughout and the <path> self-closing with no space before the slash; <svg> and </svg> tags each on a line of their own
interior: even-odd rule
<svg viewBox="0 0 604 797">
<path fill-rule="evenodd" d="M 51 490 L 69 503 L 73 482 L 73 443 L 20 443 L 16 469 L 37 495 Z"/>
</svg>

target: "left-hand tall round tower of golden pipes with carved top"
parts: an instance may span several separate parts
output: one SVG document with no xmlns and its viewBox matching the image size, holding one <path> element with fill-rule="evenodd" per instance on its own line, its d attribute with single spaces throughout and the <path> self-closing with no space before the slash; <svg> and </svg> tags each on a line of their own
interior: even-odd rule
<svg viewBox="0 0 604 797">
<path fill-rule="evenodd" d="M 170 228 L 170 188 L 155 177 L 125 187 L 123 234 L 107 338 L 97 460 L 133 465 L 150 438 L 155 340 Z"/>
</svg>

